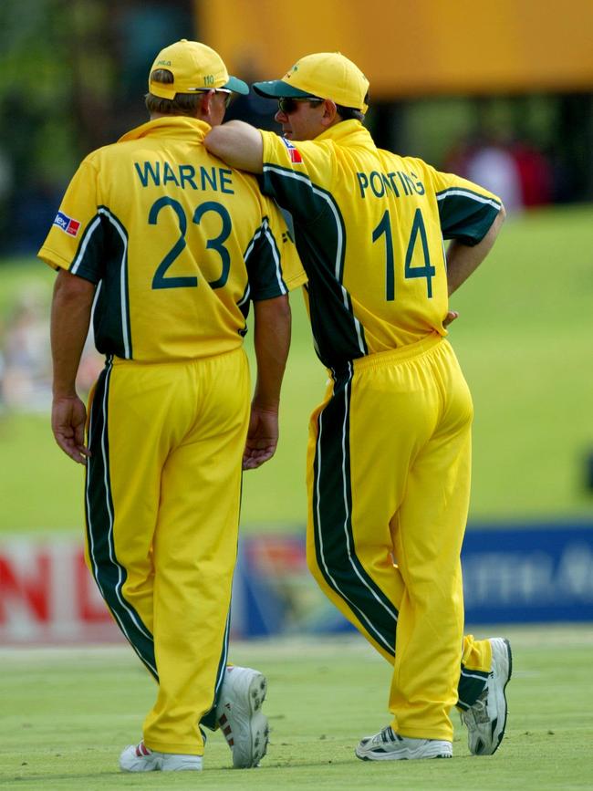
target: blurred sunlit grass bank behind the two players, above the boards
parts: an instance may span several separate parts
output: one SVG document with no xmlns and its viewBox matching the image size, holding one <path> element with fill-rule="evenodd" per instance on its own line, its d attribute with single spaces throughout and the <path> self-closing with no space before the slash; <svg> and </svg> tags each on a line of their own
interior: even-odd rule
<svg viewBox="0 0 593 791">
<path fill-rule="evenodd" d="M 593 514 L 584 485 L 593 450 L 591 206 L 510 219 L 481 269 L 453 297 L 451 339 L 475 405 L 473 520 Z M 24 287 L 49 298 L 53 275 L 34 261 L 0 265 L 0 317 Z M 306 520 L 307 420 L 326 372 L 310 341 L 302 299 L 276 458 L 244 478 L 246 530 Z M 82 469 L 62 456 L 47 416 L 0 417 L 0 532 L 76 529 Z M 36 496 L 32 497 L 31 492 Z"/>
</svg>

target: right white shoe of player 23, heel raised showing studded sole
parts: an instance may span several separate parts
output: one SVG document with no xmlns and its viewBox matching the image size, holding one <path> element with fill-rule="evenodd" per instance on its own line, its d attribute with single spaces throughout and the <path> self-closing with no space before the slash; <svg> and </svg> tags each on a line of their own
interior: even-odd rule
<svg viewBox="0 0 593 791">
<path fill-rule="evenodd" d="M 266 692 L 262 673 L 251 668 L 226 668 L 216 721 L 233 753 L 235 769 L 257 766 L 265 755 L 269 730 L 261 708 Z"/>
</svg>

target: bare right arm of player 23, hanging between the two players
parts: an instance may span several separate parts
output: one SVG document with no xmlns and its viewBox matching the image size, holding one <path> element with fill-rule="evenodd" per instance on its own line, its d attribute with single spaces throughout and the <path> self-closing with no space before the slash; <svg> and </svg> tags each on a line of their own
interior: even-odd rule
<svg viewBox="0 0 593 791">
<path fill-rule="evenodd" d="M 244 470 L 254 470 L 276 453 L 280 388 L 290 348 L 287 295 L 255 302 L 254 313 L 257 380 L 243 454 Z"/>
</svg>

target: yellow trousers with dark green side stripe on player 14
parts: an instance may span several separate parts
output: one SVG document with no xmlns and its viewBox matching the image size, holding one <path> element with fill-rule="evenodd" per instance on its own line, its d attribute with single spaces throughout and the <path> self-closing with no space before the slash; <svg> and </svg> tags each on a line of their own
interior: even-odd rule
<svg viewBox="0 0 593 791">
<path fill-rule="evenodd" d="M 471 395 L 436 334 L 331 373 L 309 425 L 308 566 L 393 663 L 394 731 L 452 741 L 449 713 L 492 661 L 488 640 L 463 638 Z"/>
</svg>

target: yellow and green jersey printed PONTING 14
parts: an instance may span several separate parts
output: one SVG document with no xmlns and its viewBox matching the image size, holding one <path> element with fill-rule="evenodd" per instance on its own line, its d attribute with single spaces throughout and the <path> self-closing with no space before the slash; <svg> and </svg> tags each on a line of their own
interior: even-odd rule
<svg viewBox="0 0 593 791">
<path fill-rule="evenodd" d="M 446 335 L 443 239 L 475 245 L 500 200 L 381 151 L 358 120 L 314 141 L 262 131 L 263 190 L 292 213 L 317 354 L 328 368 Z"/>
</svg>

